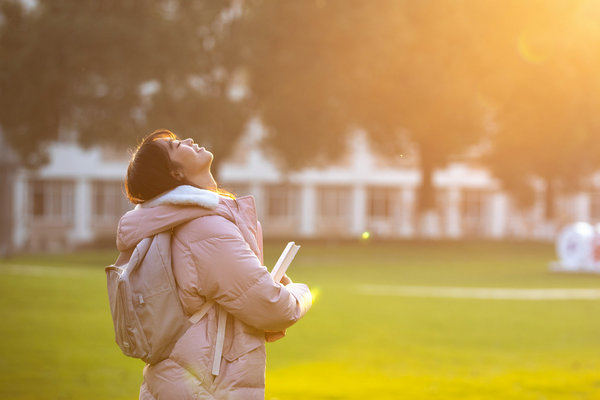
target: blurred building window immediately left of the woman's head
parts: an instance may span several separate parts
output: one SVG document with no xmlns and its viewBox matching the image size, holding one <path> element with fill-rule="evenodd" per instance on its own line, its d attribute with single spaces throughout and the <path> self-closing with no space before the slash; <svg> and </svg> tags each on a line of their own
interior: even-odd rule
<svg viewBox="0 0 600 400">
<path fill-rule="evenodd" d="M 131 209 L 121 182 L 92 183 L 92 213 L 100 219 L 117 219 Z"/>
</svg>

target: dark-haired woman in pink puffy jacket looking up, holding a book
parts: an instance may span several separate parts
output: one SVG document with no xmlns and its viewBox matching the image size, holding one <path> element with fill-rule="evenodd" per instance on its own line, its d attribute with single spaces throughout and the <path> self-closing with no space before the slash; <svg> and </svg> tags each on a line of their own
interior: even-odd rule
<svg viewBox="0 0 600 400">
<path fill-rule="evenodd" d="M 127 170 L 137 207 L 121 218 L 117 247 L 127 253 L 171 230 L 184 311 L 210 307 L 169 358 L 146 365 L 140 399 L 264 399 L 265 340 L 282 338 L 311 305 L 306 285 L 287 276 L 274 282 L 262 266 L 254 199 L 222 195 L 212 160 L 192 139 L 161 130 L 138 146 Z"/>
</svg>

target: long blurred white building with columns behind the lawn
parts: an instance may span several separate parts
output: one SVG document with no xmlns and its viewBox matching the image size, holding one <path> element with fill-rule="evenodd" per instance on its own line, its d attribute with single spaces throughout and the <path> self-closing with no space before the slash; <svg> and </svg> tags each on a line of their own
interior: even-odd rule
<svg viewBox="0 0 600 400">
<path fill-rule="evenodd" d="M 436 211 L 418 220 L 421 176 L 409 161 L 380 165 L 358 135 L 346 162 L 285 175 L 255 145 L 253 129 L 258 128 L 251 125 L 235 161 L 222 164 L 217 180 L 238 196 L 254 195 L 267 238 L 358 238 L 370 232 L 381 238 L 548 240 L 565 223 L 600 222 L 600 174 L 589 192 L 559 199 L 553 225 L 544 222 L 541 197 L 530 210 L 517 210 L 488 171 L 450 164 L 433 176 Z M 119 217 L 131 208 L 122 184 L 125 151 L 55 144 L 49 154 L 48 165 L 37 172 L 19 170 L 14 179 L 13 248 L 52 250 L 114 240 Z"/>
</svg>

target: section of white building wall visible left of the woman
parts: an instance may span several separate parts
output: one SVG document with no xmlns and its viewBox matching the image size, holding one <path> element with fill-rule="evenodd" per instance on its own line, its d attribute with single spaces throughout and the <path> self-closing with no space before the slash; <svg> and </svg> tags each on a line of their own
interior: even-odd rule
<svg viewBox="0 0 600 400">
<path fill-rule="evenodd" d="M 120 216 L 131 209 L 122 183 L 127 160 L 70 144 L 53 145 L 49 155 L 45 167 L 16 176 L 13 246 L 59 250 L 114 238 Z"/>
</svg>

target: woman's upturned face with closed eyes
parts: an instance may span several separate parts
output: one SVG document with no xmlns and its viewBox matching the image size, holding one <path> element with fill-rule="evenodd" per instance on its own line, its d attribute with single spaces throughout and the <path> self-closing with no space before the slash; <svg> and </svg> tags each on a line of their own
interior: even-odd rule
<svg viewBox="0 0 600 400">
<path fill-rule="evenodd" d="M 191 138 L 159 139 L 159 141 L 167 147 L 171 162 L 181 169 L 187 180 L 193 180 L 198 174 L 210 170 L 213 154 L 204 147 L 199 147 Z"/>
</svg>

